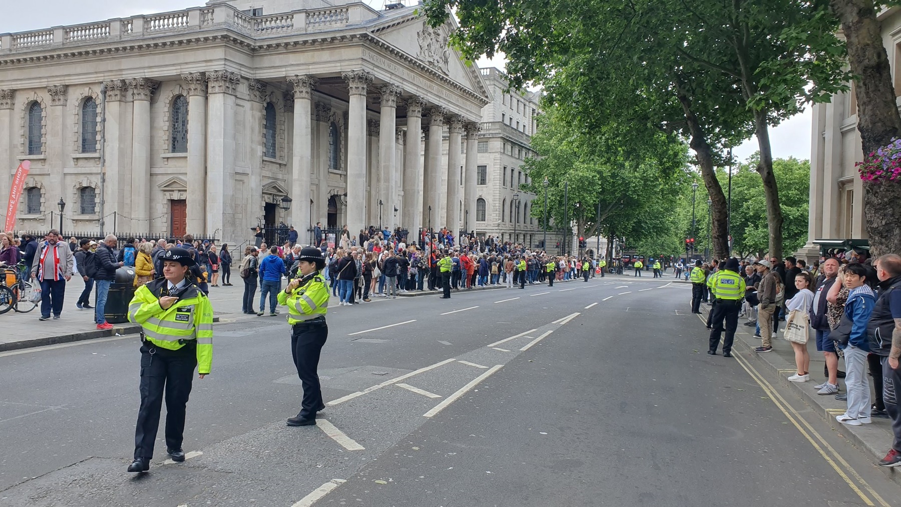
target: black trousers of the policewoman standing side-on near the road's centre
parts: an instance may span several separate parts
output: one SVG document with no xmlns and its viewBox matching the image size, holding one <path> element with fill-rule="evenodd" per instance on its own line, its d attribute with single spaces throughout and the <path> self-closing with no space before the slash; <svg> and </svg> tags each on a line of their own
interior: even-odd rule
<svg viewBox="0 0 901 507">
<path fill-rule="evenodd" d="M 291 356 L 297 368 L 297 376 L 304 386 L 304 399 L 300 403 L 300 417 L 314 419 L 316 411 L 323 407 L 323 391 L 319 385 L 319 355 L 329 337 L 325 320 L 300 322 L 291 329 Z"/>
</svg>

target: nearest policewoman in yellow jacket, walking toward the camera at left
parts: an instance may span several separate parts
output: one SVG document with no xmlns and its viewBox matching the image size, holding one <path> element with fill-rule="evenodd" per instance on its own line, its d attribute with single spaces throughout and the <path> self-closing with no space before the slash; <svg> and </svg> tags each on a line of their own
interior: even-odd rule
<svg viewBox="0 0 901 507">
<path fill-rule="evenodd" d="M 129 472 L 146 472 L 159 428 L 166 392 L 166 451 L 184 461 L 181 443 L 185 405 L 194 368 L 200 378 L 213 362 L 213 306 L 187 274 L 195 261 L 186 249 L 168 249 L 163 276 L 138 287 L 128 320 L 141 324 L 141 410 L 134 432 L 134 461 Z"/>
</svg>

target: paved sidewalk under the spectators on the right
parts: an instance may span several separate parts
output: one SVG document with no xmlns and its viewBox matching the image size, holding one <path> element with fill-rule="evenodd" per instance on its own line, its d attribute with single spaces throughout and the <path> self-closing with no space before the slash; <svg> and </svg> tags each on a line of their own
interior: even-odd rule
<svg viewBox="0 0 901 507">
<path fill-rule="evenodd" d="M 706 321 L 707 314 L 710 312 L 710 306 L 702 304 L 701 307 L 704 311 L 702 316 Z M 743 325 L 745 321 L 747 321 L 745 317 L 739 319 L 738 331 L 735 333 L 735 344 L 741 343 L 751 350 L 760 347 L 760 339 L 756 339 L 753 336 L 754 328 Z M 777 338 L 773 340 L 772 352 L 766 354 L 758 354 L 756 352 L 750 353 L 751 358 L 756 357 L 757 362 L 766 367 L 764 370 L 761 370 L 760 373 L 764 375 L 769 374 L 770 377 L 777 377 L 782 385 L 791 388 L 802 401 L 814 409 L 814 412 L 819 413 L 840 437 L 851 440 L 855 447 L 860 448 L 874 457 L 873 466 L 877 466 L 876 462 L 882 459 L 882 457 L 885 457 L 886 452 L 891 448 L 892 440 L 894 439 L 891 431 L 891 421 L 888 419 L 873 418 L 871 424 L 864 424 L 862 426 L 846 426 L 839 421 L 835 421 L 835 416 L 844 413 L 848 405 L 845 402 L 836 400 L 834 395 L 821 396 L 816 394 L 814 385 L 825 380 L 823 375 L 825 360 L 823 358 L 823 352 L 816 351 L 816 343 L 813 339 L 807 341 L 807 351 L 810 354 L 811 380 L 801 383 L 789 382 L 787 377 L 795 375 L 797 368 L 795 366 L 795 352 L 791 348 L 791 344 L 782 338 L 782 330 L 785 329 L 784 323 L 785 322 L 779 322 L 779 332 Z M 706 336 L 707 333 L 705 330 L 705 341 Z M 813 336 L 813 333 L 811 333 L 811 336 Z M 718 350 L 718 352 L 722 354 L 722 348 Z M 722 358 L 722 356 L 720 356 L 720 358 Z M 842 371 L 845 369 L 843 359 L 839 360 L 839 369 Z M 872 381 L 870 381 L 870 384 L 872 384 Z M 848 392 L 845 388 L 843 378 L 839 379 L 839 386 L 842 393 Z M 886 472 L 893 481 L 901 484 L 901 469 L 887 468 L 884 466 L 877 467 Z"/>
</svg>

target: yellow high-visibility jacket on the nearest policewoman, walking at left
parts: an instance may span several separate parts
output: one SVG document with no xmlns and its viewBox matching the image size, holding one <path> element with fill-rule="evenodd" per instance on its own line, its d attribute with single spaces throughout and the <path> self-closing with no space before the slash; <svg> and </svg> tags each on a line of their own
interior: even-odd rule
<svg viewBox="0 0 901 507">
<path fill-rule="evenodd" d="M 144 340 L 161 349 L 177 350 L 196 340 L 197 373 L 208 374 L 213 364 L 213 305 L 197 287 L 189 284 L 168 309 L 159 298 L 168 295 L 168 280 L 159 278 L 141 285 L 128 305 L 128 320 L 141 324 Z"/>
</svg>

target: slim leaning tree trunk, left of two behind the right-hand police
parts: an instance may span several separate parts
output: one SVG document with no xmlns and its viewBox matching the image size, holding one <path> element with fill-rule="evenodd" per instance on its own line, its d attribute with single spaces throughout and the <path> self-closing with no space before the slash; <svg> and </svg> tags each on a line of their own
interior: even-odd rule
<svg viewBox="0 0 901 507">
<path fill-rule="evenodd" d="M 677 92 L 679 103 L 685 112 L 688 131 L 691 132 L 689 145 L 695 150 L 697 165 L 701 167 L 701 176 L 704 177 L 704 186 L 710 196 L 711 230 L 710 237 L 714 243 L 714 258 L 726 258 L 729 255 L 729 215 L 726 196 L 723 187 L 716 179 L 714 169 L 713 149 L 707 143 L 704 130 L 701 128 L 697 116 L 691 110 L 691 99 L 687 95 Z"/>
</svg>

